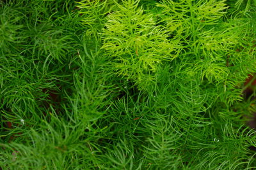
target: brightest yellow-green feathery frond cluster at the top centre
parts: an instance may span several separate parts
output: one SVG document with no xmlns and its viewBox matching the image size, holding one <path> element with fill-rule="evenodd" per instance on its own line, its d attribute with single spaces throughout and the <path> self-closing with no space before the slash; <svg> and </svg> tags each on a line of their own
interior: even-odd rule
<svg viewBox="0 0 256 170">
<path fill-rule="evenodd" d="M 102 49 L 113 60 L 116 74 L 135 81 L 140 89 L 147 89 L 154 80 L 154 72 L 164 60 L 177 57 L 179 41 L 169 41 L 168 31 L 150 13 L 145 13 L 140 1 L 116 4 L 117 11 L 109 14 L 102 31 Z M 151 82 L 150 82 L 151 81 Z"/>
</svg>

